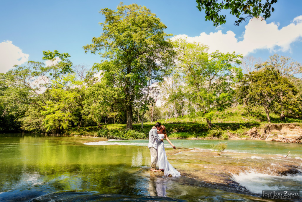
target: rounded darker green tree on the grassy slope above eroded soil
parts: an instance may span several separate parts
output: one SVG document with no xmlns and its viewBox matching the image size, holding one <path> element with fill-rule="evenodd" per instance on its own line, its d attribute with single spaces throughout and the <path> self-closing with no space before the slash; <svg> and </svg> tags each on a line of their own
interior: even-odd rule
<svg viewBox="0 0 302 202">
<path fill-rule="evenodd" d="M 239 94 L 246 98 L 249 108 L 263 107 L 268 122 L 271 122 L 270 112 L 279 111 L 283 114 L 293 103 L 296 89 L 286 77 L 272 65 L 264 62 L 258 65 L 258 71 L 250 72 L 243 78 Z"/>
</svg>

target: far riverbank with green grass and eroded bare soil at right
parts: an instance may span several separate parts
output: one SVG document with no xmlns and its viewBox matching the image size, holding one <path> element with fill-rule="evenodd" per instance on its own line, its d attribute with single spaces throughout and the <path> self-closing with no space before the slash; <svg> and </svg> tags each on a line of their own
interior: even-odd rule
<svg viewBox="0 0 302 202">
<path fill-rule="evenodd" d="M 208 128 L 203 116 L 189 116 L 158 120 L 167 129 L 171 139 L 255 139 L 302 143 L 302 120 L 285 118 L 280 121 L 278 114 L 271 114 L 272 123 L 265 121 L 265 114 L 250 112 L 241 106 L 217 111 L 212 117 L 212 127 Z M 126 124 L 103 124 L 97 126 L 68 129 L 66 135 L 84 135 L 111 139 L 146 139 L 155 125 L 133 124 L 133 131 L 126 130 Z"/>
</svg>

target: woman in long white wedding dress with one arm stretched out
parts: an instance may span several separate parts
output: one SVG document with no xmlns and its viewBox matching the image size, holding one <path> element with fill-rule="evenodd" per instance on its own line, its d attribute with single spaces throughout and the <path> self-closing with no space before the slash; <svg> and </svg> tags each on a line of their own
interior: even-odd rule
<svg viewBox="0 0 302 202">
<path fill-rule="evenodd" d="M 171 144 L 173 149 L 176 147 L 172 144 L 169 140 L 165 126 L 161 125 L 158 131 L 159 138 L 166 138 L 166 140 Z M 158 160 L 158 167 L 159 170 L 164 170 L 164 175 L 168 176 L 171 174 L 173 177 L 180 176 L 180 172 L 176 171 L 175 168 L 168 162 L 167 155 L 165 152 L 164 143 L 162 141 L 157 141 L 157 160 Z"/>
</svg>

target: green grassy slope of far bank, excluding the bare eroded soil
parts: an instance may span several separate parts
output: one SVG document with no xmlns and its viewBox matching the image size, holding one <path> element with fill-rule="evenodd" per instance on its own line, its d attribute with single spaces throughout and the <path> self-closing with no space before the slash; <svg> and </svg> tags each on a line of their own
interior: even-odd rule
<svg viewBox="0 0 302 202">
<path fill-rule="evenodd" d="M 296 123 L 302 125 L 302 119 L 285 118 L 280 121 L 278 114 L 270 114 L 272 123 Z M 207 122 L 202 114 L 197 116 L 185 115 L 184 117 L 171 118 L 167 120 L 158 120 L 165 125 L 167 134 L 170 138 L 221 138 L 228 139 L 230 135 L 243 138 L 247 137 L 244 132 L 252 127 L 261 128 L 268 124 L 265 113 L 252 111 L 247 113 L 242 106 L 228 108 L 225 111 L 217 111 L 212 117 L 214 124 L 208 129 Z M 90 135 L 97 137 L 106 137 L 113 139 L 144 139 L 148 138 L 149 130 L 155 125 L 153 123 L 144 123 L 144 129 L 141 124 L 133 124 L 133 131 L 126 130 L 126 124 L 104 124 L 103 128 L 97 126 L 71 128 L 65 131 L 66 135 Z"/>
</svg>

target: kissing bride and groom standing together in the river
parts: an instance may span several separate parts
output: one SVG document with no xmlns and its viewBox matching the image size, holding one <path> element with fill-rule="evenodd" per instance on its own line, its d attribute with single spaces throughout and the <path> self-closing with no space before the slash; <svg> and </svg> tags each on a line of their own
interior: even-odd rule
<svg viewBox="0 0 302 202">
<path fill-rule="evenodd" d="M 151 154 L 151 171 L 163 171 L 165 176 L 180 176 L 180 173 L 168 162 L 164 147 L 164 138 L 171 144 L 173 149 L 176 149 L 167 136 L 165 126 L 157 122 L 155 127 L 153 126 L 149 131 L 148 148 Z M 157 161 L 159 169 L 156 169 Z"/>
</svg>

